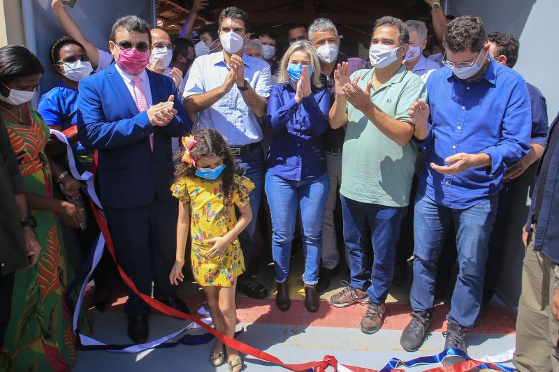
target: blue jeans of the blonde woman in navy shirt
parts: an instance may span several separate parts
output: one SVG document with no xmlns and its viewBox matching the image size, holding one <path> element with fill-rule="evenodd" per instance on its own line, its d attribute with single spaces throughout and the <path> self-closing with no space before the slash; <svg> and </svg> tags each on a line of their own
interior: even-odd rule
<svg viewBox="0 0 559 372">
<path fill-rule="evenodd" d="M 272 214 L 272 253 L 275 280 L 286 281 L 289 275 L 291 241 L 295 232 L 297 209 L 301 211 L 303 246 L 305 247 L 305 284 L 314 285 L 319 280 L 322 252 L 322 218 L 328 198 L 328 174 L 302 181 L 289 181 L 266 173 L 266 197 Z"/>
</svg>

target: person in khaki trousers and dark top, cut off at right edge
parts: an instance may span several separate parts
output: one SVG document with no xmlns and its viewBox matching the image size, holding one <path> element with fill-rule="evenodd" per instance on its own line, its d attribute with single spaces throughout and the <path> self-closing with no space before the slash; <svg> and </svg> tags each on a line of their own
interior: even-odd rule
<svg viewBox="0 0 559 372">
<path fill-rule="evenodd" d="M 516 318 L 514 366 L 557 371 L 559 352 L 559 114 L 553 120 L 523 231 L 528 246 Z"/>
</svg>

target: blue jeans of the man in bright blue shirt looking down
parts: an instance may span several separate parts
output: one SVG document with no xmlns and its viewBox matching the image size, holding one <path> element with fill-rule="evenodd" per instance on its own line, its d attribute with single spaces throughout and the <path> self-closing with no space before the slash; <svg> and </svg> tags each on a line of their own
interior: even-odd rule
<svg viewBox="0 0 559 372">
<path fill-rule="evenodd" d="M 479 313 L 484 288 L 488 241 L 497 214 L 498 198 L 466 209 L 443 207 L 418 193 L 414 218 L 414 283 L 410 299 L 414 311 L 433 311 L 437 261 L 451 223 L 456 228 L 458 278 L 448 318 L 472 327 Z"/>
</svg>

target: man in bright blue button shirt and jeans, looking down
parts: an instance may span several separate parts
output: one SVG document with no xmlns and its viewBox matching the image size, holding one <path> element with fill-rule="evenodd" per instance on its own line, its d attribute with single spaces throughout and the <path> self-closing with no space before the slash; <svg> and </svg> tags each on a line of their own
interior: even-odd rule
<svg viewBox="0 0 559 372">
<path fill-rule="evenodd" d="M 479 17 L 458 17 L 444 33 L 446 68 L 427 81 L 429 107 L 412 105 L 415 137 L 426 151 L 414 221 L 412 321 L 400 338 L 419 348 L 430 325 L 437 258 L 449 225 L 456 226 L 460 271 L 447 315 L 444 348 L 466 350 L 467 329 L 479 313 L 488 240 L 507 164 L 528 154 L 530 99 L 514 70 L 488 56 Z M 444 359 L 445 365 L 463 361 Z"/>
</svg>

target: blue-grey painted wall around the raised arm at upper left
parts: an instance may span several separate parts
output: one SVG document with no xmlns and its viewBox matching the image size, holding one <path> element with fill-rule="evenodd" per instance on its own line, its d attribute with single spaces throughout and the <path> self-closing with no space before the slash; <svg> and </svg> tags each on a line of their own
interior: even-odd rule
<svg viewBox="0 0 559 372">
<path fill-rule="evenodd" d="M 50 45 L 64 33 L 50 0 L 21 0 L 24 10 L 25 44 L 36 52 L 45 66 L 41 81 L 41 94 L 59 81 L 49 68 Z M 66 8 L 78 23 L 83 34 L 99 49 L 108 50 L 110 28 L 117 18 L 135 14 L 150 24 L 155 24 L 155 1 L 153 0 L 78 0 L 74 8 Z M 40 95 L 36 95 L 38 98 Z"/>
</svg>

